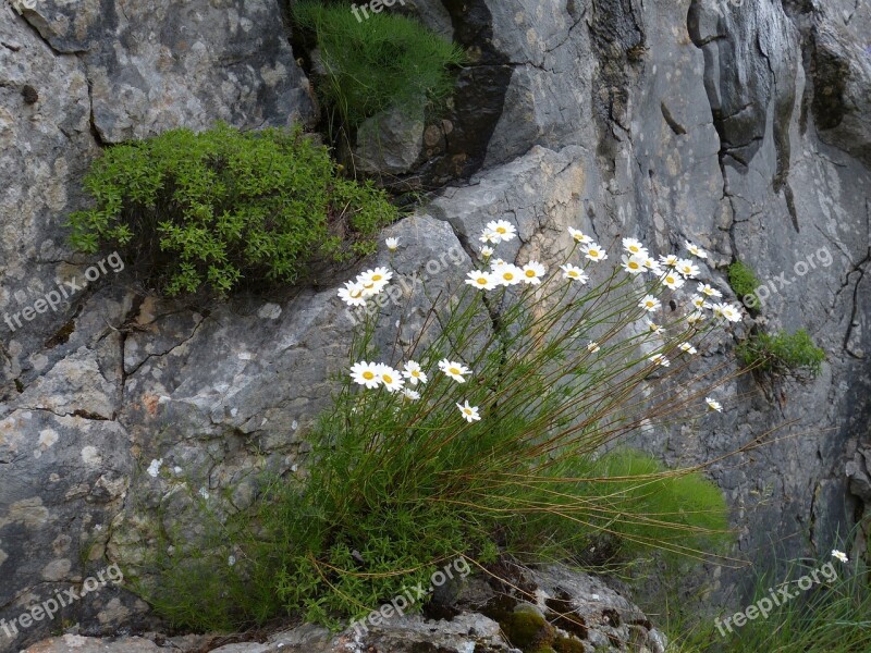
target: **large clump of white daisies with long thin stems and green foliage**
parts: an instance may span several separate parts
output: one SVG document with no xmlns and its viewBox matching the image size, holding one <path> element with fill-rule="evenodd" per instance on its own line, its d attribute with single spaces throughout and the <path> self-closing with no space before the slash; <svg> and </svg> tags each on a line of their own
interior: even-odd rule
<svg viewBox="0 0 871 653">
<path fill-rule="evenodd" d="M 505 224 L 494 229 L 510 235 Z M 602 248 L 587 251 L 578 262 L 599 275 L 592 286 L 574 264 L 547 278 L 535 262 L 469 273 L 462 288 L 449 288 L 447 306 L 432 307 L 427 321 L 439 328 L 395 353 L 379 347 L 380 313 L 369 313 L 332 407 L 307 434 L 308 476 L 271 479 L 250 512 L 214 520 L 219 581 L 158 582 L 145 596 L 176 624 L 201 628 L 213 625 L 189 609 L 197 602 L 212 606 L 219 624 L 262 623 L 278 611 L 336 625 L 428 583 L 458 556 L 481 565 L 502 554 L 568 559 L 604 534 L 621 542 L 624 562 L 641 549 L 714 557 L 727 538 L 714 485 L 639 453 L 601 452 L 642 423 L 692 423 L 712 410 L 702 397 L 723 381 L 687 374 L 697 355 L 690 343 L 701 345 L 726 311 L 700 322 L 691 305 L 694 319 L 650 308 L 654 296 L 668 305 L 664 275 L 619 266 L 609 273 L 592 262 L 603 260 Z M 573 249 L 567 261 L 574 257 L 582 258 Z M 365 272 L 340 296 L 356 301 L 369 288 L 371 299 L 390 275 Z M 494 287 L 511 275 L 531 281 Z M 655 330 L 651 316 L 662 322 Z M 388 358 L 404 368 L 404 386 L 400 370 L 367 362 Z M 230 554 L 234 566 L 223 562 Z M 164 575 L 192 574 L 188 556 L 175 558 Z M 236 589 L 245 583 L 258 587 Z M 228 589 L 216 593 L 220 587 Z"/>
</svg>

